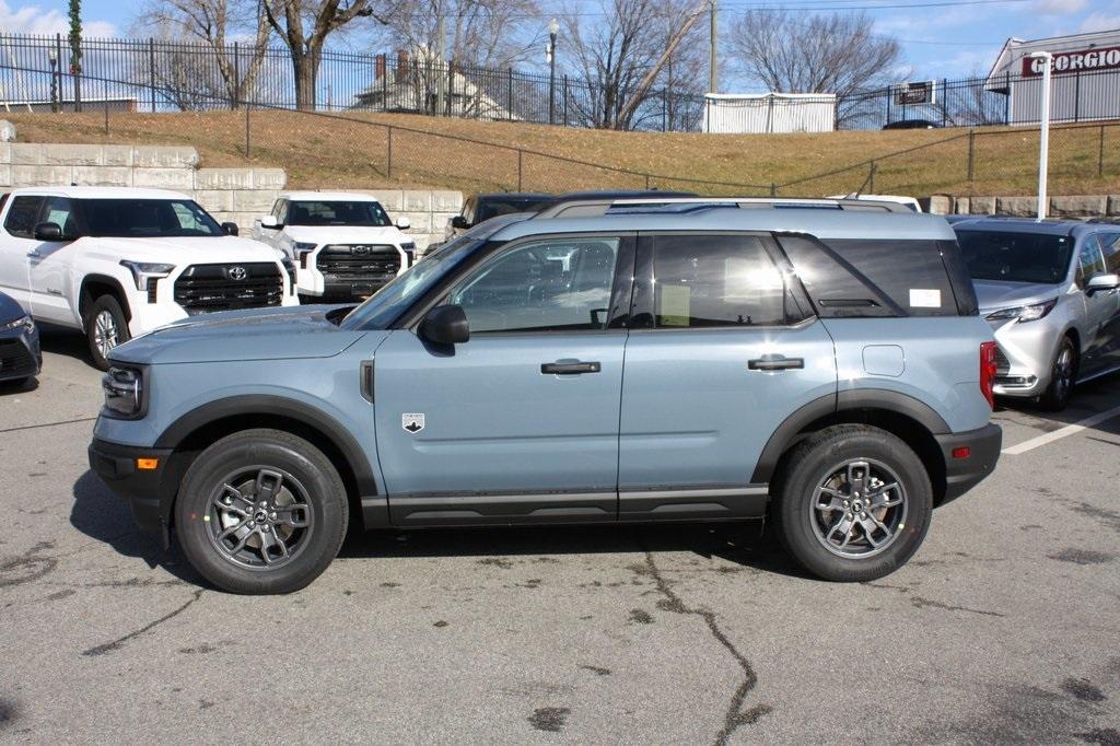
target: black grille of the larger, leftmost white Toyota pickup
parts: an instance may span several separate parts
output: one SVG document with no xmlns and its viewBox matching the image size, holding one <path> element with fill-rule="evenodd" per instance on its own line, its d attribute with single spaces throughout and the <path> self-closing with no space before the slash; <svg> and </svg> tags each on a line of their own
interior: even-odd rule
<svg viewBox="0 0 1120 746">
<path fill-rule="evenodd" d="M 175 302 L 188 314 L 279 306 L 283 277 L 272 262 L 192 264 L 175 281 Z"/>
</svg>

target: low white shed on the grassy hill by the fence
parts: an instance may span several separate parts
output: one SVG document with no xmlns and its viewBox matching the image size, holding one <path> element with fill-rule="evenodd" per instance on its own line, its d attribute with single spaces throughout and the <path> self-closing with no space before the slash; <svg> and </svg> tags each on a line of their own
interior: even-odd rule
<svg viewBox="0 0 1120 746">
<path fill-rule="evenodd" d="M 724 134 L 831 132 L 837 97 L 832 93 L 709 93 L 703 131 Z"/>
</svg>

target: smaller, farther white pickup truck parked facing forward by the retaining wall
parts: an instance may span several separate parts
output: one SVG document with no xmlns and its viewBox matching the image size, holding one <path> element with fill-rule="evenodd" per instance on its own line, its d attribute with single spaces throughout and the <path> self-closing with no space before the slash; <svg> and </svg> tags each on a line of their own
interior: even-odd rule
<svg viewBox="0 0 1120 746">
<path fill-rule="evenodd" d="M 411 265 L 416 243 L 371 195 L 288 192 L 253 223 L 253 237 L 297 267 L 305 300 L 352 300 L 376 292 Z"/>
</svg>

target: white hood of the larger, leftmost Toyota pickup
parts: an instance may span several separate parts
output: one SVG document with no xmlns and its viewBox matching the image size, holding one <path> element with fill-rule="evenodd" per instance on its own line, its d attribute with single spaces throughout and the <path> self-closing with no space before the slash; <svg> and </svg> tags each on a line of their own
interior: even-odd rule
<svg viewBox="0 0 1120 746">
<path fill-rule="evenodd" d="M 111 259 L 150 261 L 156 263 L 213 264 L 226 262 L 270 262 L 283 257 L 283 252 L 267 243 L 234 235 L 187 236 L 166 239 L 81 239 L 83 248 L 95 252 L 105 246 Z M 116 262 L 113 261 L 115 264 Z"/>
</svg>

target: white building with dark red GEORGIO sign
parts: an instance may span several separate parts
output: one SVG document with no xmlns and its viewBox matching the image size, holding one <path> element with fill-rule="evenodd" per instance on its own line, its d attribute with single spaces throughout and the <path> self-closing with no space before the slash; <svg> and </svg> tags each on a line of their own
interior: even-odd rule
<svg viewBox="0 0 1120 746">
<path fill-rule="evenodd" d="M 1120 29 L 1116 29 L 1029 41 L 1008 39 L 984 87 L 1008 96 L 1009 123 L 1038 122 L 1043 60 L 1032 59 L 1034 52 L 1054 55 L 1053 121 L 1120 119 Z"/>
</svg>

